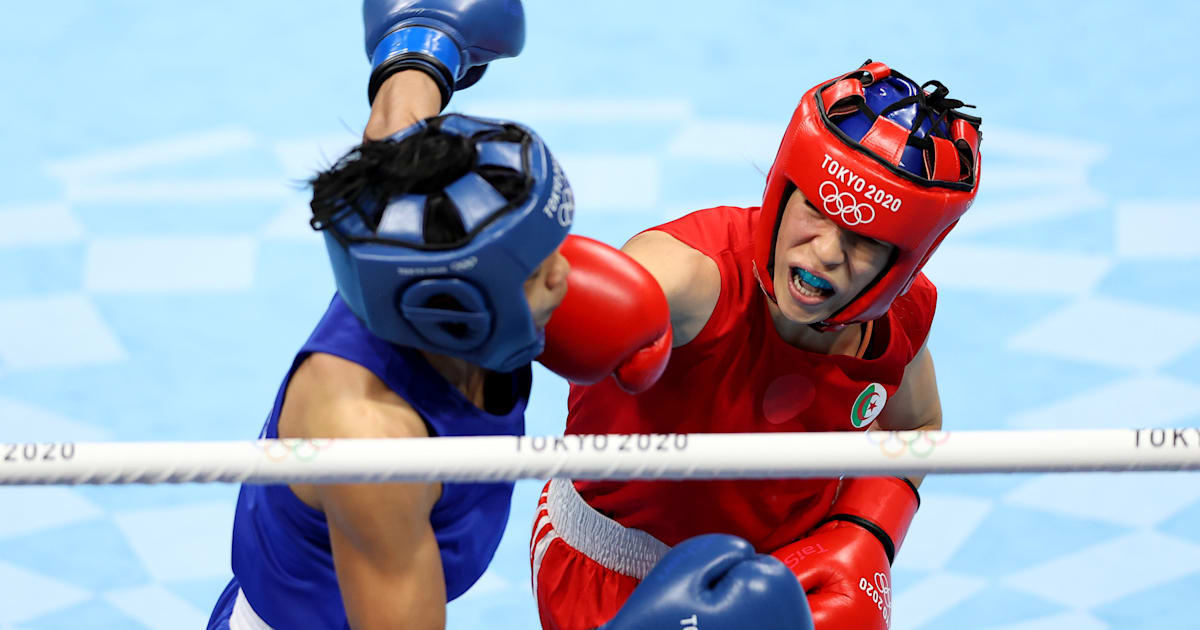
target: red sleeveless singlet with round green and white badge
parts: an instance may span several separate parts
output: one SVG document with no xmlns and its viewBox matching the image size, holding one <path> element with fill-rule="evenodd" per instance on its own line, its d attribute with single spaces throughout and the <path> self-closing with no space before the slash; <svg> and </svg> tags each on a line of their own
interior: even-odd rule
<svg viewBox="0 0 1200 630">
<path fill-rule="evenodd" d="M 937 292 L 919 276 L 875 320 L 865 358 L 805 352 L 775 331 L 751 263 L 758 209 L 720 206 L 652 228 L 712 258 L 721 294 L 708 323 L 672 352 L 662 378 L 630 396 L 608 378 L 571 386 L 566 433 L 864 431 L 895 394 L 934 319 Z M 863 354 L 863 353 L 860 353 Z M 886 404 L 886 401 L 884 401 Z M 859 426 L 856 426 L 859 425 Z M 576 481 L 589 505 L 667 545 L 721 532 L 760 552 L 803 538 L 836 480 Z"/>
</svg>

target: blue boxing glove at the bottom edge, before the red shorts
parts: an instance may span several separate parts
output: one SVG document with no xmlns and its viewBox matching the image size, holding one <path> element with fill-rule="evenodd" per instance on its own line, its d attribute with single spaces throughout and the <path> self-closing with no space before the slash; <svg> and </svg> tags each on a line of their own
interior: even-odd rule
<svg viewBox="0 0 1200 630">
<path fill-rule="evenodd" d="M 778 559 L 728 534 L 688 539 L 598 630 L 812 630 L 804 588 Z"/>
</svg>

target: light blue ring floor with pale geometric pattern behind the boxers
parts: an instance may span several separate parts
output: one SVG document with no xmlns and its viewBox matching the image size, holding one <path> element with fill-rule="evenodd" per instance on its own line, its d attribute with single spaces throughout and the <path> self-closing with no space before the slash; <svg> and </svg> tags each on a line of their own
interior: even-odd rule
<svg viewBox="0 0 1200 630">
<path fill-rule="evenodd" d="M 755 204 L 796 98 L 866 58 L 979 107 L 929 266 L 949 428 L 1200 424 L 1190 2 L 527 2 L 454 107 L 538 128 L 577 232 Z M 23 2 L 0 19 L 0 442 L 252 438 L 331 292 L 301 181 L 366 120 L 354 2 Z M 538 374 L 533 433 L 565 388 Z M 450 628 L 528 629 L 518 486 Z M 1194 629 L 1190 474 L 926 480 L 895 629 Z M 0 490 L 0 629 L 200 628 L 234 487 Z"/>
</svg>

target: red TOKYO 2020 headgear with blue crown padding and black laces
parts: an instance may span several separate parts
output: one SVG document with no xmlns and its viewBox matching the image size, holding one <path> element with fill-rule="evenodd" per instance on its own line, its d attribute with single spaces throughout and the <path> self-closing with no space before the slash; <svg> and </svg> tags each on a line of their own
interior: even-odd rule
<svg viewBox="0 0 1200 630">
<path fill-rule="evenodd" d="M 775 239 L 793 187 L 840 227 L 895 246 L 878 277 L 815 328 L 877 319 L 908 290 L 979 187 L 980 120 L 948 92 L 868 61 L 800 98 L 755 226 L 754 270 L 772 301 Z"/>
</svg>

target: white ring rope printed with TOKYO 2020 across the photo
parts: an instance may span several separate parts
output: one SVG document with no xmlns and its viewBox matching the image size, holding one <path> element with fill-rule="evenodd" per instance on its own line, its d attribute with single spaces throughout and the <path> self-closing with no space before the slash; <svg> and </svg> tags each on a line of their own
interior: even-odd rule
<svg viewBox="0 0 1200 630">
<path fill-rule="evenodd" d="M 0 442 L 0 485 L 778 479 L 1086 470 L 1200 470 L 1200 428 Z"/>
</svg>

